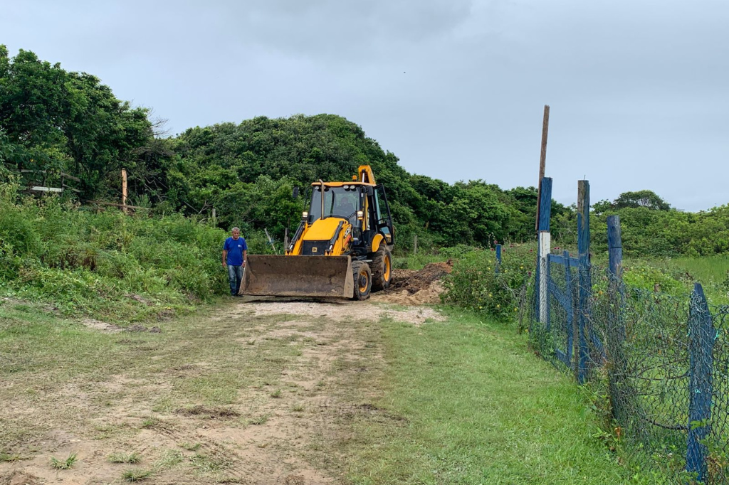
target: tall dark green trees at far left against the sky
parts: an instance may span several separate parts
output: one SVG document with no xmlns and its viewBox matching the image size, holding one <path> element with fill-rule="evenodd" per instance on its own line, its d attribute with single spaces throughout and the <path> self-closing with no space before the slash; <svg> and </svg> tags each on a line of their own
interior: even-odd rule
<svg viewBox="0 0 729 485">
<path fill-rule="evenodd" d="M 152 140 L 147 110 L 114 97 L 95 76 L 67 72 L 0 45 L 0 159 L 4 165 L 81 179 L 82 196 L 109 194 L 106 178 L 133 166 Z M 5 167 L 7 170 L 7 167 Z"/>
</svg>

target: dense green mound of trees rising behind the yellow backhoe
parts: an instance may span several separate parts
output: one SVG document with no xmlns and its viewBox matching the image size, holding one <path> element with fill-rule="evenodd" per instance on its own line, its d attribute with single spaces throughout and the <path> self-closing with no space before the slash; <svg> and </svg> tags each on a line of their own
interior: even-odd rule
<svg viewBox="0 0 729 485">
<path fill-rule="evenodd" d="M 536 189 L 505 192 L 486 181 L 451 185 L 411 175 L 361 127 L 332 114 L 195 127 L 165 143 L 172 155 L 133 173 L 135 186 L 154 194 L 158 210 L 215 207 L 221 225 L 239 225 L 244 233 L 266 227 L 282 237 L 308 203 L 306 196 L 292 200 L 293 187 L 349 180 L 364 164 L 386 187 L 400 248 L 409 248 L 415 234 L 426 248 L 488 246 L 533 233 Z M 555 214 L 566 210 L 555 203 Z"/>
</svg>

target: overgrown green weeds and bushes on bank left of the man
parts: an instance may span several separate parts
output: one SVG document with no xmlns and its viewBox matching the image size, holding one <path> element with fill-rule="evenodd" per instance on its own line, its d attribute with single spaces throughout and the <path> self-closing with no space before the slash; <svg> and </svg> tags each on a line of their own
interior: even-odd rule
<svg viewBox="0 0 729 485">
<path fill-rule="evenodd" d="M 179 214 L 125 216 L 0 184 L 0 293 L 137 319 L 225 293 L 227 234 Z"/>
</svg>

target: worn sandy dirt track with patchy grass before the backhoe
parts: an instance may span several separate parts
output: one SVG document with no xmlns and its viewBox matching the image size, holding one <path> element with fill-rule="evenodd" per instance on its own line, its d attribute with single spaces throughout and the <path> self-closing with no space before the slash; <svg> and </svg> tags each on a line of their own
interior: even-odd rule
<svg viewBox="0 0 729 485">
<path fill-rule="evenodd" d="M 0 382 L 0 485 L 340 483 L 352 419 L 387 419 L 372 400 L 388 318 L 440 315 L 249 298 L 155 331 L 42 323 Z"/>
</svg>

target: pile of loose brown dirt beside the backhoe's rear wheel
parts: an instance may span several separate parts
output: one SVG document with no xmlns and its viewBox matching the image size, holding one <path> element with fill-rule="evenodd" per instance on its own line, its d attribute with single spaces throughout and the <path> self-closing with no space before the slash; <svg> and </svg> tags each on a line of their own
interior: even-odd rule
<svg viewBox="0 0 729 485">
<path fill-rule="evenodd" d="M 420 271 L 415 269 L 394 269 L 390 287 L 373 293 L 374 301 L 398 304 L 440 303 L 443 284 L 440 280 L 453 271 L 453 260 L 445 263 L 430 263 Z"/>
</svg>

